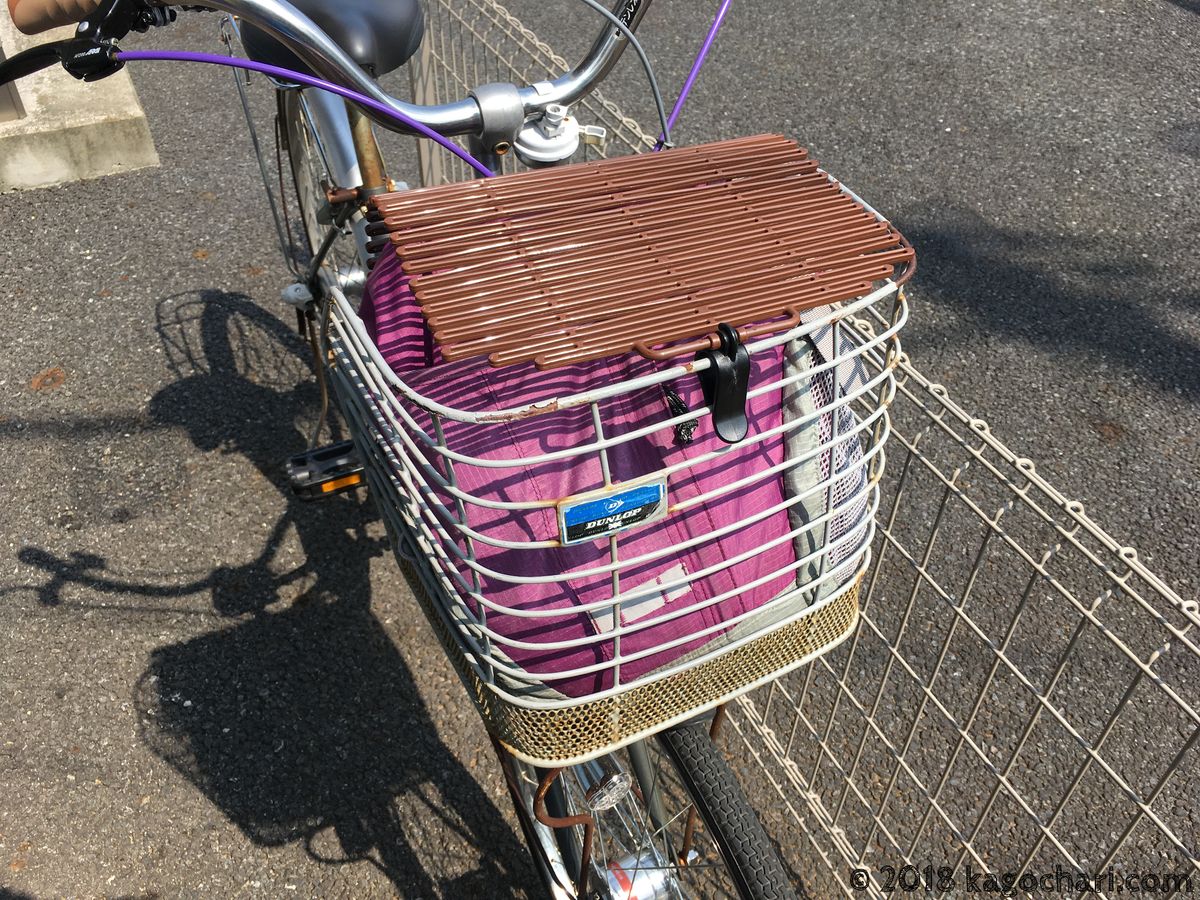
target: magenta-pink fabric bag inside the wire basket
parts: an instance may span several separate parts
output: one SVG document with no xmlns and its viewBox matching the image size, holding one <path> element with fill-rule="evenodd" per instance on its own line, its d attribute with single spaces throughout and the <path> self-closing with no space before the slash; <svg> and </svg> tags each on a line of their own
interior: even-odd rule
<svg viewBox="0 0 1200 900">
<path fill-rule="evenodd" d="M 400 263 L 391 254 L 383 254 L 367 283 L 360 316 L 384 359 L 412 388 L 440 403 L 458 409 L 484 412 L 511 408 L 524 403 L 563 397 L 584 390 L 654 371 L 653 364 L 641 358 L 616 358 L 539 372 L 532 365 L 492 368 L 486 359 L 444 362 L 426 338 L 425 324 L 408 287 Z M 751 386 L 780 376 L 780 352 L 756 354 L 751 359 Z M 673 385 L 690 409 L 703 404 L 700 384 L 695 377 L 678 379 Z M 413 404 L 410 413 L 433 433 L 428 415 Z M 628 433 L 667 418 L 662 388 L 655 385 L 635 394 L 623 395 L 601 404 L 606 436 Z M 781 422 L 780 394 L 770 391 L 750 403 L 750 434 L 778 427 Z M 594 440 L 592 413 L 588 407 L 556 410 L 502 425 L 468 425 L 443 420 L 446 444 L 451 450 L 486 460 L 511 460 L 577 446 Z M 631 481 L 666 466 L 713 450 L 726 454 L 698 467 L 685 469 L 671 478 L 667 487 L 670 504 L 728 485 L 755 472 L 782 461 L 780 438 L 752 446 L 728 448 L 713 433 L 706 416 L 688 446 L 676 446 L 671 428 L 648 437 L 623 443 L 610 450 L 612 478 L 617 482 Z M 430 460 L 436 460 L 431 452 Z M 436 462 L 445 473 L 442 461 Z M 458 486 L 476 497 L 492 500 L 558 500 L 571 494 L 593 491 L 602 485 L 596 454 L 572 456 L 568 460 L 521 466 L 518 468 L 482 468 L 458 463 L 455 466 Z M 454 510 L 449 494 L 442 503 Z M 624 532 L 619 538 L 619 558 L 634 559 L 646 553 L 706 535 L 764 511 L 784 499 L 782 480 L 766 478 L 719 498 L 667 516 L 665 520 Z M 493 510 L 470 505 L 467 521 L 472 528 L 494 539 L 509 541 L 556 540 L 558 522 L 553 509 Z M 752 524 L 743 526 L 720 539 L 706 539 L 695 547 L 673 552 L 634 568 L 623 568 L 622 593 L 630 593 L 649 583 L 673 581 L 682 572 L 694 574 L 715 563 L 776 540 L 731 568 L 706 575 L 691 582 L 690 588 L 670 592 L 659 598 L 658 610 L 629 611 L 626 624 L 653 622 L 668 612 L 689 608 L 718 594 L 733 592 L 719 604 L 660 622 L 626 634 L 620 653 L 648 650 L 664 642 L 697 630 L 718 626 L 708 635 L 692 638 L 673 648 L 659 649 L 640 660 L 623 661 L 620 678 L 626 683 L 654 671 L 679 656 L 702 647 L 727 629 L 725 622 L 743 612 L 756 610 L 796 583 L 794 572 L 785 572 L 752 588 L 744 586 L 796 562 L 791 540 L 778 540 L 790 530 L 787 512 L 775 512 Z M 460 546 L 462 541 L 460 540 Z M 610 562 L 608 540 L 600 539 L 568 547 L 540 550 L 508 550 L 475 541 L 476 559 L 484 566 L 518 576 L 562 576 L 571 571 L 592 569 Z M 470 572 L 463 566 L 464 576 Z M 548 618 L 522 618 L 492 611 L 490 628 L 510 641 L 533 644 L 568 641 L 602 634 L 608 624 L 604 614 L 580 612 L 583 604 L 612 596 L 608 575 L 571 578 L 568 582 L 512 584 L 484 576 L 484 596 L 497 605 L 515 610 L 562 611 Z M 654 602 L 659 602 L 655 600 Z M 474 608 L 474 607 L 473 607 Z M 478 611 L 476 611 L 478 612 Z M 503 646 L 503 652 L 526 671 L 539 676 L 605 662 L 613 658 L 613 641 L 605 640 L 583 647 L 547 649 Z M 551 688 L 568 696 L 583 696 L 612 686 L 611 667 L 601 672 L 572 676 L 566 679 L 546 679 Z"/>
</svg>

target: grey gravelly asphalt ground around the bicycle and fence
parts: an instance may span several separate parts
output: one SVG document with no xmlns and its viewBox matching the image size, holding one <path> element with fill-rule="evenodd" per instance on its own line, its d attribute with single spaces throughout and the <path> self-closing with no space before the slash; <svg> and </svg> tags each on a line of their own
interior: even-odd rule
<svg viewBox="0 0 1200 900">
<path fill-rule="evenodd" d="M 571 55 L 553 6 L 512 8 Z M 665 85 L 708 8 L 658 0 Z M 744 4 L 678 134 L 792 134 L 890 215 L 918 364 L 1192 596 L 1198 71 L 1192 0 Z M 0 197 L 0 894 L 521 896 L 373 515 L 284 492 L 316 398 L 228 76 L 133 76 L 161 168 Z"/>
</svg>

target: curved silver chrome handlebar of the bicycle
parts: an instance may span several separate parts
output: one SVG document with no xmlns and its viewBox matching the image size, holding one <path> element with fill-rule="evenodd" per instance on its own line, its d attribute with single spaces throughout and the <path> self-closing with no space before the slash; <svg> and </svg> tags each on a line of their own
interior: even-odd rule
<svg viewBox="0 0 1200 900">
<path fill-rule="evenodd" d="M 479 104 L 470 97 L 440 106 L 406 103 L 384 91 L 317 23 L 288 0 L 203 0 L 205 6 L 221 10 L 258 25 L 283 41 L 322 78 L 352 88 L 378 103 L 428 128 L 445 134 L 475 134 L 484 127 Z M 635 30 L 652 0 L 617 0 L 613 14 Z M 629 42 L 616 25 L 606 23 L 587 56 L 566 74 L 517 89 L 524 115 L 535 115 L 551 103 L 569 106 L 586 96 L 617 65 Z M 396 122 L 385 127 L 404 131 Z"/>
</svg>

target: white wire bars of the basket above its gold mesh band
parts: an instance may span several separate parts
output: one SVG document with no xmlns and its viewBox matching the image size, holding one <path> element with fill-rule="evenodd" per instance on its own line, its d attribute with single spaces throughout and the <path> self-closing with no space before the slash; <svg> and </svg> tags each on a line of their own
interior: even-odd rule
<svg viewBox="0 0 1200 900">
<path fill-rule="evenodd" d="M 551 461 L 574 461 L 586 456 L 595 456 L 600 460 L 602 472 L 608 472 L 607 454 L 620 444 L 637 440 L 653 434 L 654 432 L 670 432 L 676 425 L 688 422 L 708 414 L 707 408 L 697 408 L 682 415 L 665 415 L 658 421 L 631 430 L 619 436 L 606 434 L 602 425 L 604 413 L 601 403 L 606 400 L 622 395 L 641 391 L 647 388 L 673 382 L 684 376 L 695 376 L 704 371 L 710 364 L 708 360 L 698 360 L 685 365 L 662 367 L 649 376 L 631 378 L 625 382 L 608 384 L 582 394 L 566 395 L 560 397 L 547 397 L 534 401 L 521 407 L 510 409 L 488 409 L 486 412 L 462 410 L 448 407 L 421 392 L 416 391 L 401 376 L 395 373 L 388 362 L 379 354 L 370 340 L 366 330 L 359 319 L 353 306 L 338 290 L 331 290 L 330 336 L 331 348 L 337 361 L 335 371 L 338 374 L 337 382 L 343 394 L 343 401 L 350 412 L 352 431 L 359 439 L 366 455 L 377 461 L 377 476 L 384 488 L 382 497 L 386 498 L 385 505 L 394 505 L 403 512 L 404 532 L 410 542 L 419 544 L 432 566 L 432 574 L 437 578 L 437 595 L 443 600 L 446 608 L 452 611 L 457 622 L 457 637 L 461 652 L 470 661 L 476 676 L 490 685 L 506 702 L 526 706 L 529 708 L 556 708 L 575 706 L 578 701 L 571 698 L 547 698 L 515 689 L 517 684 L 545 684 L 581 674 L 592 674 L 601 670 L 614 672 L 614 684 L 611 689 L 588 695 L 588 700 L 602 700 L 625 690 L 630 690 L 648 679 L 661 679 L 676 674 L 680 666 L 697 667 L 702 665 L 707 656 L 689 656 L 686 664 L 679 666 L 667 666 L 656 671 L 653 676 L 643 676 L 631 680 L 623 680 L 619 677 L 619 667 L 643 656 L 661 653 L 673 646 L 683 644 L 706 632 L 725 631 L 744 620 L 756 616 L 758 611 L 751 611 L 740 616 L 731 617 L 719 625 L 709 626 L 702 631 L 694 631 L 671 641 L 661 642 L 652 648 L 637 653 L 622 653 L 620 637 L 647 628 L 653 628 L 664 622 L 690 614 L 700 608 L 714 606 L 730 596 L 730 592 L 710 598 L 701 604 L 683 607 L 680 610 L 665 612 L 658 616 L 648 616 L 632 623 L 614 625 L 602 635 L 584 636 L 568 641 L 515 641 L 505 637 L 488 626 L 488 617 L 493 614 L 517 616 L 529 619 L 545 619 L 562 616 L 560 610 L 539 611 L 524 610 L 520 607 L 505 606 L 494 601 L 484 589 L 485 580 L 493 583 L 508 584 L 532 584 L 532 583 L 565 583 L 568 580 L 586 577 L 612 577 L 612 596 L 594 602 L 580 605 L 578 612 L 602 612 L 613 611 L 613 622 L 619 622 L 616 613 L 619 606 L 632 600 L 648 596 L 654 593 L 672 592 L 682 587 L 688 587 L 698 578 L 706 577 L 714 571 L 730 568 L 739 562 L 758 553 L 762 546 L 749 547 L 739 554 L 715 562 L 703 570 L 689 572 L 683 577 L 643 586 L 642 588 L 622 589 L 619 576 L 622 571 L 644 563 L 670 560 L 682 550 L 703 544 L 720 538 L 722 534 L 734 532 L 748 523 L 757 522 L 769 515 L 774 515 L 782 509 L 796 505 L 811 494 L 830 492 L 833 484 L 847 478 L 850 470 L 830 469 L 829 478 L 815 484 L 804 493 L 791 497 L 776 508 L 767 510 L 749 511 L 744 520 L 720 529 L 691 535 L 682 544 L 673 544 L 658 548 L 650 553 L 638 557 L 619 558 L 617 536 L 610 541 L 610 562 L 589 569 L 575 570 L 548 576 L 527 576 L 516 572 L 497 571 L 480 564 L 475 556 L 479 545 L 490 545 L 502 548 L 522 550 L 553 550 L 560 546 L 557 539 L 508 541 L 492 538 L 484 530 L 473 528 L 469 524 L 469 511 L 475 506 L 490 509 L 515 509 L 529 510 L 539 508 L 553 508 L 557 500 L 506 500 L 498 502 L 486 497 L 478 497 L 458 487 L 455 476 L 456 469 L 461 472 L 464 466 L 479 466 L 481 468 L 503 472 L 505 469 L 521 469 L 528 464 L 545 463 Z M 880 312 L 878 307 L 886 307 Z M 857 326 L 847 324 L 850 317 L 871 311 L 876 318 L 887 326 L 876 334 L 870 328 L 864 328 L 862 318 L 853 319 Z M 863 517 L 862 524 L 851 529 L 847 534 L 830 538 L 824 541 L 818 551 L 800 557 L 788 566 L 762 576 L 761 582 L 770 581 L 788 571 L 796 571 L 812 563 L 822 563 L 830 552 L 850 547 L 850 563 L 839 562 L 838 565 L 822 565 L 822 575 L 814 582 L 806 582 L 793 592 L 788 592 L 773 602 L 782 602 L 793 596 L 815 588 L 821 588 L 829 582 L 832 588 L 845 588 L 854 582 L 865 570 L 866 547 L 871 542 L 874 532 L 875 511 L 875 485 L 877 484 L 883 468 L 883 444 L 887 438 L 889 426 L 886 416 L 887 403 L 894 394 L 892 385 L 892 361 L 899 353 L 898 332 L 907 318 L 907 306 L 894 283 L 884 284 L 871 294 L 845 305 L 827 307 L 823 314 L 815 316 L 810 322 L 803 323 L 798 328 L 762 341 L 751 343 L 748 349 L 761 353 L 772 348 L 790 343 L 804 336 L 810 336 L 822 329 L 832 329 L 834 346 L 848 348 L 846 353 L 839 353 L 826 362 L 814 366 L 808 372 L 802 372 L 790 377 L 772 379 L 767 384 L 756 385 L 751 396 L 758 396 L 770 391 L 782 391 L 792 388 L 805 378 L 815 378 L 826 372 L 838 372 L 848 364 L 866 362 L 871 374 L 854 390 L 839 396 L 834 392 L 830 403 L 816 408 L 811 415 L 785 421 L 782 425 L 763 430 L 761 433 L 746 438 L 742 446 L 754 446 L 758 443 L 786 434 L 804 425 L 811 425 L 817 416 L 826 415 L 833 409 L 842 406 L 856 407 L 856 419 L 853 430 L 844 433 L 834 433 L 829 440 L 817 445 L 805 456 L 786 458 L 781 463 L 769 468 L 762 468 L 752 475 L 738 481 L 722 485 L 715 491 L 709 491 L 700 497 L 685 500 L 672 506 L 670 512 L 674 515 L 710 500 L 715 496 L 721 496 L 740 490 L 746 484 L 769 478 L 780 478 L 782 473 L 792 467 L 799 466 L 812 456 L 826 454 L 835 444 L 850 440 L 860 440 L 865 446 L 860 462 L 856 467 L 862 467 L 864 478 L 864 490 L 857 494 L 850 494 L 840 503 L 829 503 L 824 515 L 814 518 L 798 528 L 780 534 L 772 541 L 782 544 L 793 541 L 796 538 L 824 528 L 839 514 L 846 511 L 853 504 L 863 502 L 869 504 L 869 515 Z M 836 383 L 836 379 L 834 379 Z M 504 458 L 487 458 L 473 456 L 456 451 L 446 440 L 446 432 L 443 422 L 452 420 L 467 425 L 494 425 L 497 422 L 528 422 L 541 415 L 552 412 L 562 412 L 577 407 L 587 407 L 595 426 L 590 438 L 581 438 L 580 443 L 536 456 L 505 456 Z M 433 427 L 424 428 L 416 420 L 414 413 L 424 410 L 431 415 Z M 665 476 L 672 478 L 680 472 L 694 467 L 719 466 L 721 457 L 727 451 L 712 451 L 695 454 L 689 458 L 668 466 L 654 473 L 647 473 L 647 478 Z M 438 470 L 434 460 L 444 461 L 445 475 Z M 452 497 L 455 509 L 449 509 L 443 503 L 443 496 Z M 863 494 L 866 494 L 865 497 Z M 752 588 L 755 584 L 740 586 L 740 589 Z M 467 601 L 470 600 L 472 604 Z M 472 610 L 475 606 L 478 612 Z M 614 607 L 617 607 L 614 610 Z M 798 618 L 797 616 L 780 623 L 787 624 Z M 761 636 L 764 630 L 756 631 L 750 636 L 739 638 L 721 648 L 720 652 L 730 652 Z M 577 646 L 589 646 L 600 641 L 613 641 L 613 659 L 601 664 L 584 667 L 576 667 L 559 672 L 530 672 L 526 668 L 512 665 L 503 655 L 504 647 L 526 649 L 564 649 Z M 714 650 L 715 652 L 715 650 Z M 503 677 L 503 678 L 502 678 Z M 505 683 L 504 679 L 508 679 Z"/>
</svg>

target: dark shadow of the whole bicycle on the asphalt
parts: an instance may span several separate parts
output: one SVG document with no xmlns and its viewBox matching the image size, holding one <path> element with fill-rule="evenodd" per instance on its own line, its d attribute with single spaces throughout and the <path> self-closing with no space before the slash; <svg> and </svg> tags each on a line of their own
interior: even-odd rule
<svg viewBox="0 0 1200 900">
<path fill-rule="evenodd" d="M 240 295 L 203 292 L 163 305 L 160 331 L 179 380 L 152 398 L 151 419 L 184 428 L 206 454 L 244 457 L 287 508 L 256 558 L 186 586 L 211 590 L 216 611 L 234 624 L 154 650 L 134 688 L 142 740 L 256 845 L 302 841 L 320 863 L 366 862 L 401 896 L 520 893 L 532 881 L 523 845 L 439 739 L 406 660 L 370 608 L 370 562 L 386 546 L 368 533 L 368 498 L 305 504 L 288 487 L 284 461 L 304 449 L 300 427 L 318 403 L 307 347 Z M 288 570 L 292 529 L 304 562 Z M 103 559 L 22 553 L 58 587 L 175 594 L 128 580 L 109 584 Z M 40 599 L 53 606 L 55 593 Z M 466 874 L 449 880 L 425 870 L 445 865 L 448 830 L 470 850 L 450 860 Z"/>
</svg>

